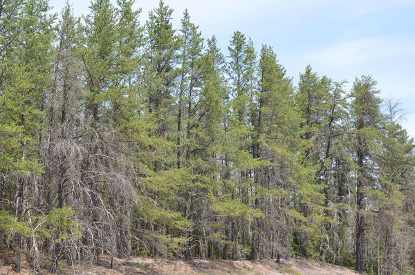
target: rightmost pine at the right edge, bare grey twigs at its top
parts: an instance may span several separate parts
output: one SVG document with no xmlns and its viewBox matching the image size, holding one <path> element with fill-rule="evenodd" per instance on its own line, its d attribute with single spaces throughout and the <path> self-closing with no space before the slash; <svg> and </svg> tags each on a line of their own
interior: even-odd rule
<svg viewBox="0 0 415 275">
<path fill-rule="evenodd" d="M 380 274 L 394 274 L 394 270 L 411 273 L 413 268 L 408 265 L 407 258 L 402 257 L 400 249 L 405 246 L 403 243 L 413 246 L 407 231 L 411 227 L 403 226 L 405 211 L 401 210 L 405 191 L 413 188 L 408 180 L 413 173 L 414 145 L 397 123 L 400 115 L 398 105 L 390 101 L 386 103 L 387 113 L 382 115 L 378 131 L 377 182 L 367 191 L 374 212 L 369 216 L 374 225 L 369 227 L 367 234 L 374 245 L 367 247 L 371 251 L 367 261 L 369 269 L 376 269 Z"/>
</svg>

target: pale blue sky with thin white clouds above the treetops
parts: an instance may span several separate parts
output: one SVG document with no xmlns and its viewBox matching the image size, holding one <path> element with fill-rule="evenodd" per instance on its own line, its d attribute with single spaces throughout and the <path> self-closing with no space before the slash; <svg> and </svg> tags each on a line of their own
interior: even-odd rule
<svg viewBox="0 0 415 275">
<path fill-rule="evenodd" d="M 113 0 L 115 3 L 116 0 Z M 75 14 L 88 12 L 89 1 L 70 0 Z M 319 75 L 349 86 L 360 75 L 378 81 L 381 96 L 401 102 L 402 124 L 415 138 L 415 1 L 369 0 L 165 0 L 179 26 L 187 8 L 204 37 L 216 35 L 223 53 L 232 32 L 251 37 L 255 47 L 273 46 L 295 82 L 306 64 Z M 158 0 L 137 0 L 142 23 Z M 51 0 L 56 12 L 62 0 Z"/>
</svg>

